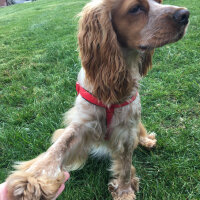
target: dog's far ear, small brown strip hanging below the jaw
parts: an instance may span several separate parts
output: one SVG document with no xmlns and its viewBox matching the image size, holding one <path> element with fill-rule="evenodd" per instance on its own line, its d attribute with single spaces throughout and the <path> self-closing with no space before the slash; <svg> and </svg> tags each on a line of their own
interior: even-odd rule
<svg viewBox="0 0 200 200">
<path fill-rule="evenodd" d="M 141 58 L 141 67 L 140 67 L 140 75 L 147 75 L 148 71 L 152 68 L 152 58 L 153 58 L 154 50 L 145 52 Z"/>
</svg>

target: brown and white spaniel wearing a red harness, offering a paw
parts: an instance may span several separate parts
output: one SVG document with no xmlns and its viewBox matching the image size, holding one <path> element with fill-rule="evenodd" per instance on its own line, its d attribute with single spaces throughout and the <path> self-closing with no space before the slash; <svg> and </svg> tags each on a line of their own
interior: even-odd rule
<svg viewBox="0 0 200 200">
<path fill-rule="evenodd" d="M 141 123 L 139 81 L 152 67 L 154 49 L 180 40 L 186 8 L 161 0 L 93 0 L 82 10 L 78 44 L 82 68 L 66 128 L 37 158 L 19 163 L 7 178 L 9 199 L 53 199 L 64 170 L 81 167 L 91 151 L 112 161 L 108 184 L 114 200 L 133 200 L 138 190 L 132 154 L 138 143 L 152 148 L 155 134 Z"/>
</svg>

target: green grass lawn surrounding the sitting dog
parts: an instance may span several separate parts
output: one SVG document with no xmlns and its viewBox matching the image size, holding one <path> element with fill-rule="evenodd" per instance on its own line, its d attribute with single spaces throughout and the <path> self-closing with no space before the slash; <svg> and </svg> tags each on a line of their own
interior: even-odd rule
<svg viewBox="0 0 200 200">
<path fill-rule="evenodd" d="M 86 2 L 38 0 L 0 9 L 0 182 L 14 161 L 49 147 L 73 105 L 80 69 L 75 16 Z M 137 199 L 199 200 L 200 1 L 165 3 L 189 8 L 191 22 L 183 40 L 156 50 L 154 68 L 141 82 L 142 120 L 158 144 L 134 153 Z M 59 199 L 111 199 L 108 167 L 108 160 L 89 159 Z"/>
</svg>

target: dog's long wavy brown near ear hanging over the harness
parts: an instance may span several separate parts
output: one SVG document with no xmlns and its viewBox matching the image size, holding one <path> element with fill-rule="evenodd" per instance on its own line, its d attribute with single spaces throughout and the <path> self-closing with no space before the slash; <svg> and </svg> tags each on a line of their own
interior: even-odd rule
<svg viewBox="0 0 200 200">
<path fill-rule="evenodd" d="M 130 73 L 113 30 L 110 10 L 103 4 L 86 5 L 80 14 L 78 42 L 93 94 L 104 103 L 117 103 L 126 95 Z"/>
</svg>

